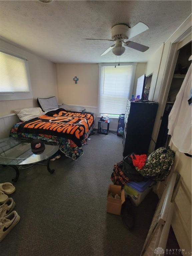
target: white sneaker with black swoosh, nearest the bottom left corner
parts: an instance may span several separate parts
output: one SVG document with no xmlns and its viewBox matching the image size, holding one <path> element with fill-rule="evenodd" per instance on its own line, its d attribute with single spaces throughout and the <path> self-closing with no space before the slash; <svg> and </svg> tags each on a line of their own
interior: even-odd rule
<svg viewBox="0 0 192 256">
<path fill-rule="evenodd" d="M 0 242 L 9 234 L 11 229 L 17 225 L 19 220 L 20 216 L 16 211 L 0 218 Z"/>
</svg>

